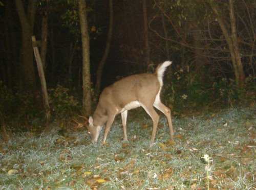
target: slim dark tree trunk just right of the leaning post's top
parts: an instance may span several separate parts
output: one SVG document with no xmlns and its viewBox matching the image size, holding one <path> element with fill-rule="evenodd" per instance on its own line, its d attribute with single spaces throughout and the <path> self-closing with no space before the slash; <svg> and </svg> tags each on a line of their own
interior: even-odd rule
<svg viewBox="0 0 256 190">
<path fill-rule="evenodd" d="M 41 50 L 40 56 L 42 61 L 42 68 L 46 68 L 46 52 L 47 52 L 47 36 L 48 36 L 48 22 L 47 22 L 47 11 L 42 17 L 41 23 Z"/>
</svg>

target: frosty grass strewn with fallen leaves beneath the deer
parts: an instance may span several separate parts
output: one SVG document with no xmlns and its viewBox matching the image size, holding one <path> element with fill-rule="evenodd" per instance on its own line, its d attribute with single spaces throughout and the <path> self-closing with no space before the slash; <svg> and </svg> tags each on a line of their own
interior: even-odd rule
<svg viewBox="0 0 256 190">
<path fill-rule="evenodd" d="M 0 146 L 0 189 L 206 189 L 205 154 L 210 189 L 255 189 L 255 109 L 173 118 L 174 140 L 162 117 L 154 144 L 149 118 L 128 122 L 129 142 L 118 121 L 105 146 L 56 123 L 13 134 Z"/>
</svg>

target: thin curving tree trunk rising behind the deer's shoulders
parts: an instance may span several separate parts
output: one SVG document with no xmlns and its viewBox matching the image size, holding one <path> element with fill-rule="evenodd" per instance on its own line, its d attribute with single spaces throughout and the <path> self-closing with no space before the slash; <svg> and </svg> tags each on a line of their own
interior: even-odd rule
<svg viewBox="0 0 256 190">
<path fill-rule="evenodd" d="M 104 68 L 104 64 L 106 62 L 106 58 L 108 58 L 108 55 L 109 55 L 110 43 L 111 43 L 112 33 L 113 33 L 113 1 L 109 0 L 109 4 L 110 4 L 110 26 L 109 26 L 108 38 L 106 39 L 105 52 L 104 52 L 104 55 L 99 63 L 98 69 L 97 69 L 97 80 L 96 80 L 96 85 L 95 85 L 95 96 L 96 97 L 99 96 L 103 68 Z"/>
</svg>

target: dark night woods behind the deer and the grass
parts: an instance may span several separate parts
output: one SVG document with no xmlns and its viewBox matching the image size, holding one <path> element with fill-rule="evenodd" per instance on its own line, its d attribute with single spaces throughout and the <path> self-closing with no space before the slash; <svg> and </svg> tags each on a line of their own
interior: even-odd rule
<svg viewBox="0 0 256 190">
<path fill-rule="evenodd" d="M 82 113 L 78 2 L 0 1 L 2 125 L 16 128 L 45 121 L 32 35 L 39 40 L 51 119 Z M 154 72 L 157 64 L 171 60 L 162 97 L 174 115 L 255 105 L 254 0 L 114 0 L 112 8 L 112 38 L 100 91 L 122 77 Z M 110 29 L 110 1 L 86 1 L 86 10 L 94 110 L 97 70 Z"/>
</svg>

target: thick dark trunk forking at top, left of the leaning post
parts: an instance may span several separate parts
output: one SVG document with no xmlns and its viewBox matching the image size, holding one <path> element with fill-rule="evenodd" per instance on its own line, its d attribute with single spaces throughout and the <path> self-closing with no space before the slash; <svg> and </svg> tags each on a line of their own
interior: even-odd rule
<svg viewBox="0 0 256 190">
<path fill-rule="evenodd" d="M 29 5 L 34 5 L 34 0 L 29 1 Z M 35 83 L 35 68 L 33 61 L 33 47 L 32 47 L 32 31 L 31 23 L 34 21 L 35 9 L 30 9 L 30 18 L 25 14 L 23 2 L 21 0 L 15 0 L 17 12 L 20 23 L 22 25 L 22 60 L 23 60 L 23 73 L 25 79 L 25 86 L 27 90 L 34 91 L 36 89 Z M 33 7 L 33 6 L 29 6 Z"/>
</svg>

